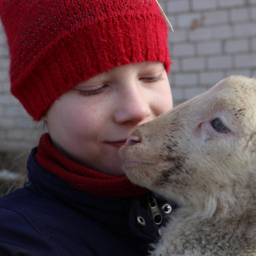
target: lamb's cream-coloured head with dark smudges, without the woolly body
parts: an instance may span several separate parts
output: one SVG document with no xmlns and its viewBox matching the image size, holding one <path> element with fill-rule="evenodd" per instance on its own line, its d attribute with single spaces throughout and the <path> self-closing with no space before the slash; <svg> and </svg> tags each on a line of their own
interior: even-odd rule
<svg viewBox="0 0 256 256">
<path fill-rule="evenodd" d="M 181 205 L 200 204 L 256 188 L 255 134 L 256 79 L 231 76 L 138 127 L 120 156 L 135 184 Z"/>
</svg>

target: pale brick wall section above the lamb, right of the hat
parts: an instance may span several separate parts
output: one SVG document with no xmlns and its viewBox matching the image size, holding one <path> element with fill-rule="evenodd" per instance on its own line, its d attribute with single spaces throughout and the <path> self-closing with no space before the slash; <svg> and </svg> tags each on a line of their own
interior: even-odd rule
<svg viewBox="0 0 256 256">
<path fill-rule="evenodd" d="M 231 74 L 256 76 L 256 0 L 162 0 L 175 106 Z"/>
</svg>

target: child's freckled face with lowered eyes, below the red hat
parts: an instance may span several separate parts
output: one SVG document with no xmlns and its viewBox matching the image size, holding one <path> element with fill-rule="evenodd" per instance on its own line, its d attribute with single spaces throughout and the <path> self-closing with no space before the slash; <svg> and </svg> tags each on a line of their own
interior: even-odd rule
<svg viewBox="0 0 256 256">
<path fill-rule="evenodd" d="M 134 128 L 169 109 L 172 93 L 163 63 L 140 62 L 77 84 L 54 101 L 42 120 L 65 156 L 122 176 L 118 149 Z"/>
</svg>

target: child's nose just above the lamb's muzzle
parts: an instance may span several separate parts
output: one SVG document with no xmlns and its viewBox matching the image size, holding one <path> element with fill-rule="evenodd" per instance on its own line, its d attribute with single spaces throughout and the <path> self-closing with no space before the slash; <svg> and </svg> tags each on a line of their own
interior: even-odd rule
<svg viewBox="0 0 256 256">
<path fill-rule="evenodd" d="M 142 122 L 150 115 L 150 102 L 146 93 L 133 89 L 120 97 L 118 108 L 115 113 L 115 120 L 118 124 L 124 122 Z"/>
</svg>

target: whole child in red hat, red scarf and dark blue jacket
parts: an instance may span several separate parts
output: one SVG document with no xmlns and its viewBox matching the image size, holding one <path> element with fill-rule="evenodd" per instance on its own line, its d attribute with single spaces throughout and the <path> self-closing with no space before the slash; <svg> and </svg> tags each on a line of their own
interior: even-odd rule
<svg viewBox="0 0 256 256">
<path fill-rule="evenodd" d="M 0 200 L 0 255 L 147 255 L 175 205 L 131 184 L 118 149 L 172 108 L 156 1 L 0 0 L 0 15 L 12 93 L 49 131 Z"/>
</svg>

